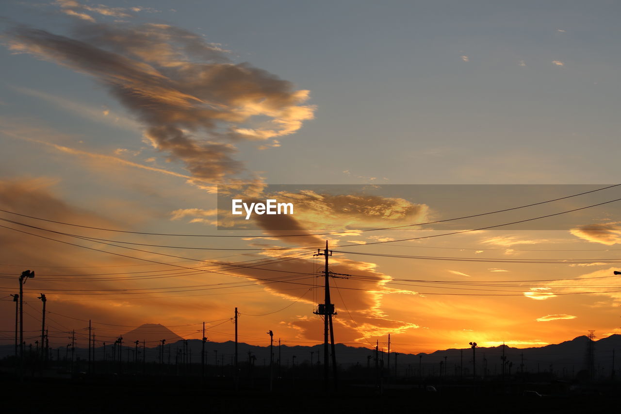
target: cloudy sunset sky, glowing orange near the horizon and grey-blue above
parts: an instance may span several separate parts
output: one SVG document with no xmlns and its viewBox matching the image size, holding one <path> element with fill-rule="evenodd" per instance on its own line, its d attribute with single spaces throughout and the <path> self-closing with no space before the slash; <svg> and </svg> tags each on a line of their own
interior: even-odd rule
<svg viewBox="0 0 621 414">
<path fill-rule="evenodd" d="M 236 306 L 241 341 L 320 343 L 325 239 L 339 343 L 621 333 L 620 9 L 2 2 L 0 343 L 25 269 L 28 341 L 45 293 L 53 347 L 88 320 L 227 341 Z M 227 228 L 223 188 L 300 210 Z"/>
</svg>

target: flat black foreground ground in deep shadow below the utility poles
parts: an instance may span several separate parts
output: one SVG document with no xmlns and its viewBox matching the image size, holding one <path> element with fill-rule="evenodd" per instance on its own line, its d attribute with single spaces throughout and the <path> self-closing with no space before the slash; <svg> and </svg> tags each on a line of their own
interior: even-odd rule
<svg viewBox="0 0 621 414">
<path fill-rule="evenodd" d="M 616 412 L 619 398 L 606 395 L 543 397 L 487 395 L 484 390 L 455 392 L 438 387 L 437 392 L 405 387 L 386 389 L 343 385 L 326 396 L 311 385 L 305 390 L 268 392 L 255 389 L 218 389 L 200 379 L 173 382 L 158 378 L 77 378 L 1 380 L 2 412 L 26 413 L 599 413 Z"/>
</svg>

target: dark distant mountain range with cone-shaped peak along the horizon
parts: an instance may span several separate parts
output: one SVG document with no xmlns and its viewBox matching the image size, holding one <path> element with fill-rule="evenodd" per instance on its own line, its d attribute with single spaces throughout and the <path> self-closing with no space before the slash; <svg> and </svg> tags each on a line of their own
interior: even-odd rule
<svg viewBox="0 0 621 414">
<path fill-rule="evenodd" d="M 133 329 L 127 333 L 120 335 L 123 337 L 124 352 L 131 352 L 135 349 L 135 341 L 139 341 L 138 347 L 142 348 L 142 342 L 145 341 L 147 345 L 147 361 L 159 361 L 161 339 L 166 339 L 164 345 L 164 358 L 168 360 L 168 355 L 171 356 L 171 362 L 175 362 L 176 352 L 183 349 L 183 338 L 178 336 L 170 329 L 161 324 L 143 324 L 142 326 Z M 97 343 L 101 344 L 102 338 L 97 338 Z M 106 341 L 106 354 L 111 354 L 112 344 L 114 339 L 110 337 L 110 341 Z M 530 372 L 546 372 L 552 370 L 557 374 L 561 372 L 578 372 L 579 370 L 586 368 L 586 352 L 589 344 L 589 338 L 586 336 L 578 336 L 571 341 L 564 341 L 560 344 L 551 344 L 542 347 L 531 348 L 513 348 L 504 346 L 504 356 L 506 360 L 512 363 L 512 372 L 520 370 L 520 364 L 524 364 L 524 370 Z M 594 341 L 594 369 L 598 375 L 609 375 L 612 370 L 612 364 L 614 361 L 614 350 L 621 349 L 621 335 L 614 334 L 607 338 Z M 191 355 L 191 361 L 198 363 L 201 361 L 201 349 L 202 341 L 200 339 L 188 339 L 187 352 Z M 130 349 L 130 351 L 125 351 Z M 207 364 L 215 364 L 215 358 L 217 357 L 218 363 L 225 365 L 231 364 L 233 361 L 233 355 L 235 352 L 235 343 L 233 341 L 227 341 L 224 343 L 216 343 L 207 341 L 205 344 Z M 0 346 L 0 357 L 6 357 L 12 355 L 14 352 L 14 345 L 7 344 Z M 65 355 L 65 347 L 63 352 L 60 352 L 60 357 Z M 53 357 L 57 357 L 57 352 L 54 350 Z M 281 359 L 283 366 L 288 366 L 295 360 L 296 365 L 309 364 L 312 362 L 317 363 L 318 358 L 322 358 L 323 361 L 324 346 L 323 344 L 317 344 L 314 346 L 287 346 L 283 345 L 280 348 L 278 344 L 274 345 L 274 360 Z M 368 362 L 373 364 L 374 350 L 366 347 L 352 347 L 343 344 L 336 345 L 337 361 L 342 367 L 352 366 L 360 364 L 366 366 Z M 97 359 L 102 359 L 104 355 L 103 346 L 97 346 L 95 349 L 95 355 Z M 125 354 L 124 354 L 125 355 Z M 476 348 L 476 366 L 479 374 L 487 372 L 487 374 L 494 374 L 494 372 L 501 372 L 503 346 L 496 347 L 477 347 Z M 269 346 L 254 346 L 247 343 L 238 344 L 238 359 L 240 362 L 248 361 L 249 357 L 255 359 L 256 365 L 262 365 L 264 362 L 269 362 L 270 351 Z M 368 359 L 371 356 L 371 359 Z M 75 357 L 81 359 L 88 359 L 88 351 L 84 348 L 77 348 L 75 350 Z M 383 356 L 384 365 L 388 364 L 388 356 L 384 353 Z M 446 364 L 445 372 L 448 375 L 452 375 L 458 372 L 459 367 L 463 365 L 465 370 L 469 370 L 472 367 L 473 351 L 471 347 L 466 345 L 463 349 L 445 349 L 443 351 L 435 351 L 429 354 L 402 354 L 399 353 L 396 356 L 398 369 L 403 374 L 414 372 L 421 367 L 425 372 L 440 372 L 440 362 Z M 621 354 L 617 355 L 617 361 L 621 359 Z M 523 362 L 522 362 L 523 361 Z M 395 353 L 391 352 L 390 364 L 391 369 L 394 369 Z M 620 365 L 617 363 L 617 365 Z"/>
</svg>

